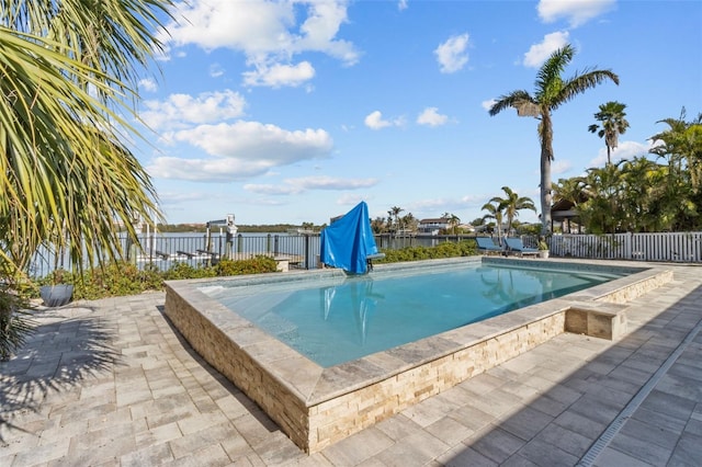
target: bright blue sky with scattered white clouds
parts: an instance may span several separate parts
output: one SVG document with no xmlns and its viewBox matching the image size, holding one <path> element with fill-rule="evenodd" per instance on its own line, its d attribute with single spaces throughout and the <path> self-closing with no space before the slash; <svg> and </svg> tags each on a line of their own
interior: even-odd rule
<svg viewBox="0 0 702 467">
<path fill-rule="evenodd" d="M 553 113 L 553 181 L 607 160 L 588 132 L 608 101 L 630 127 L 614 161 L 647 153 L 664 118 L 702 112 L 702 1 L 176 2 L 163 50 L 138 86 L 135 153 L 169 224 L 328 224 L 359 202 L 372 218 L 463 223 L 509 186 L 540 207 L 537 123 L 501 95 L 534 91 L 566 44 L 565 77 L 608 81 Z M 537 221 L 520 212 L 518 220 Z"/>
</svg>

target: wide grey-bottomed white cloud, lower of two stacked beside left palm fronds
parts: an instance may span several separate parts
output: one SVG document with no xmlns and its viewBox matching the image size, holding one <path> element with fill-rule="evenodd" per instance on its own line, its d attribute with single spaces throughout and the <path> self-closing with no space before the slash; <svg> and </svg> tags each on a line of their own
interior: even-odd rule
<svg viewBox="0 0 702 467">
<path fill-rule="evenodd" d="M 212 158 L 159 157 L 148 167 L 155 178 L 233 181 L 261 175 L 280 166 L 328 157 L 333 143 L 324 129 L 286 130 L 258 122 L 200 125 L 172 139 L 203 149 Z"/>
</svg>

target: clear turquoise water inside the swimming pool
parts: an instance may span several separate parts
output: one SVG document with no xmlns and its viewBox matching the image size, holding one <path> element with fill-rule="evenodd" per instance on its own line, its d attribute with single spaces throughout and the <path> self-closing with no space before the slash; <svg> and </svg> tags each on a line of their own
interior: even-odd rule
<svg viewBox="0 0 702 467">
<path fill-rule="evenodd" d="M 330 367 L 623 275 L 475 263 L 201 291 Z"/>
</svg>

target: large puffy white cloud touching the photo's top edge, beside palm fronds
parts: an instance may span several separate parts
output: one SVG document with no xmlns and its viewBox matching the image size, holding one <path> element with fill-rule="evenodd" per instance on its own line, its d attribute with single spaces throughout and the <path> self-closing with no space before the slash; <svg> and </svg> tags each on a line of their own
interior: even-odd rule
<svg viewBox="0 0 702 467">
<path fill-rule="evenodd" d="M 347 0 L 231 1 L 192 0 L 177 3 L 174 18 L 160 36 L 171 52 L 186 45 L 205 50 L 242 52 L 254 70 L 245 75 L 252 86 L 299 86 L 314 77 L 310 64 L 291 65 L 296 54 L 319 52 L 351 66 L 360 53 L 338 38 L 347 19 Z M 302 7 L 302 8 L 301 8 Z M 269 77 L 269 73 L 273 76 Z"/>
</svg>

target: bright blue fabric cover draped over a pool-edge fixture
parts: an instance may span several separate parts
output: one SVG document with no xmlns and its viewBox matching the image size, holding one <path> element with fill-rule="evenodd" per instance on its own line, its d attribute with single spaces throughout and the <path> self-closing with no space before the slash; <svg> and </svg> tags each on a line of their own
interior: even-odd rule
<svg viewBox="0 0 702 467">
<path fill-rule="evenodd" d="M 367 258 L 378 251 L 365 202 L 321 231 L 320 250 L 319 259 L 326 265 L 352 274 L 367 272 Z"/>
</svg>

